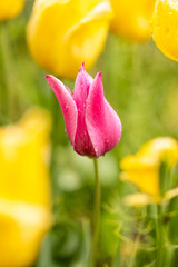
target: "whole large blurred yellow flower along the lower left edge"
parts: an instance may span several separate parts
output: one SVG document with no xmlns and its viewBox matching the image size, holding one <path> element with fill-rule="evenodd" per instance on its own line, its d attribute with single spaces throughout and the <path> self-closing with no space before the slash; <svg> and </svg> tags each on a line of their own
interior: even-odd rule
<svg viewBox="0 0 178 267">
<path fill-rule="evenodd" d="M 0 128 L 1 267 L 31 265 L 51 224 L 50 128 L 49 115 L 39 108 Z"/>
</svg>

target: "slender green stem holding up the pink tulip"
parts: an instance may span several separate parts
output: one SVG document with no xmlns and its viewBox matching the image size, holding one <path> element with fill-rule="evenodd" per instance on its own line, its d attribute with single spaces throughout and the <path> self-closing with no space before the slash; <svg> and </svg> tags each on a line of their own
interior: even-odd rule
<svg viewBox="0 0 178 267">
<path fill-rule="evenodd" d="M 100 181 L 98 171 L 98 159 L 93 159 L 95 167 L 95 205 L 93 205 L 93 218 L 92 218 L 92 243 L 90 255 L 90 267 L 96 267 L 97 253 L 98 253 L 98 234 L 99 234 L 99 217 L 100 217 Z"/>
</svg>

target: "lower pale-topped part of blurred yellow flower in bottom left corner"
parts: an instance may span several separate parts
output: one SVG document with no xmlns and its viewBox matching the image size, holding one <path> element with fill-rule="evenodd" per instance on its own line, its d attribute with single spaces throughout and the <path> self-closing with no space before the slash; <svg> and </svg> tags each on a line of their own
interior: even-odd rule
<svg viewBox="0 0 178 267">
<path fill-rule="evenodd" d="M 0 198 L 0 266 L 29 266 L 51 224 L 47 209 Z"/>
</svg>

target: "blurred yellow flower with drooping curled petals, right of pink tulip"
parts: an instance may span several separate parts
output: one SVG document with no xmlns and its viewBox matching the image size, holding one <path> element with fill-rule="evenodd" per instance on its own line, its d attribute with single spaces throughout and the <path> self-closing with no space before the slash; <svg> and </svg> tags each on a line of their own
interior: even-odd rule
<svg viewBox="0 0 178 267">
<path fill-rule="evenodd" d="M 159 188 L 161 162 L 166 162 L 169 168 L 178 162 L 178 142 L 174 138 L 152 139 L 144 145 L 137 155 L 127 156 L 120 162 L 121 179 L 132 182 L 144 192 L 142 196 L 139 194 L 139 200 L 144 199 L 142 204 L 146 200 L 149 200 L 149 202 L 152 200 L 160 202 L 162 200 Z M 168 194 L 168 196 L 170 195 Z M 136 196 L 131 196 L 131 200 L 127 198 L 127 202 L 140 202 Z"/>
</svg>

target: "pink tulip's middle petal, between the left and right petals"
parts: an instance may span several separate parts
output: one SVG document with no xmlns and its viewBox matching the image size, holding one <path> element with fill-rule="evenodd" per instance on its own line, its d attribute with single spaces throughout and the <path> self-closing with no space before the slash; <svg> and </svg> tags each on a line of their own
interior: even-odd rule
<svg viewBox="0 0 178 267">
<path fill-rule="evenodd" d="M 93 79 L 81 66 L 75 83 L 73 100 L 78 109 L 77 131 L 75 138 L 75 150 L 80 155 L 95 156 L 95 149 L 86 126 L 86 101 Z"/>
</svg>

